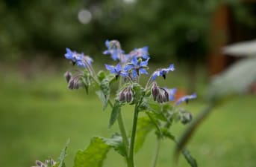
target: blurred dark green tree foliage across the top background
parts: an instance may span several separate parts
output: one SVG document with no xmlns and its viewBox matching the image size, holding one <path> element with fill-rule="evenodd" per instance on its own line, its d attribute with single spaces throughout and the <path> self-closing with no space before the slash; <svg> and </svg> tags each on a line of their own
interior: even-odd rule
<svg viewBox="0 0 256 167">
<path fill-rule="evenodd" d="M 240 1 L 222 3 L 237 11 L 240 22 L 255 26 Z M 34 53 L 60 56 L 66 47 L 99 55 L 105 39 L 119 39 L 127 51 L 149 45 L 154 61 L 203 60 L 209 49 L 210 16 L 219 4 L 218 0 L 2 0 L 0 59 Z M 92 15 L 88 24 L 78 21 L 83 9 Z"/>
</svg>

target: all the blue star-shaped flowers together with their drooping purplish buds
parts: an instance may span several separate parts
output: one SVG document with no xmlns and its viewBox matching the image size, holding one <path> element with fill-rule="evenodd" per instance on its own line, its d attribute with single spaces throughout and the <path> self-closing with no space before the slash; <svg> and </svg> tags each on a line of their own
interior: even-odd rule
<svg viewBox="0 0 256 167">
<path fill-rule="evenodd" d="M 105 68 L 110 73 L 113 73 L 115 78 L 118 79 L 119 76 L 125 78 L 130 82 L 137 82 L 137 78 L 141 74 L 149 74 L 148 73 L 148 63 L 149 63 L 149 48 L 136 48 L 131 50 L 130 53 L 125 53 L 122 50 L 120 43 L 117 40 L 106 40 L 105 45 L 107 50 L 104 50 L 104 54 L 110 54 L 111 58 L 115 61 L 118 61 L 117 65 L 107 65 L 105 64 Z M 72 62 L 80 68 L 87 69 L 92 75 L 92 62 L 93 59 L 90 56 L 84 56 L 84 53 L 77 53 L 75 51 L 66 48 L 66 59 L 72 60 Z M 146 85 L 146 88 L 151 86 L 151 92 L 154 101 L 163 103 L 169 101 L 175 101 L 175 93 L 177 91 L 176 88 L 161 88 L 157 86 L 157 83 L 154 80 L 157 76 L 163 76 L 163 79 L 166 79 L 166 74 L 175 71 L 175 66 L 170 64 L 168 68 L 158 68 L 156 71 L 152 73 L 149 77 L 149 81 Z M 81 77 L 83 73 L 77 72 L 74 76 L 70 72 L 65 73 L 66 81 L 69 83 L 69 89 L 78 89 L 83 86 L 81 82 Z M 128 78 L 128 79 L 127 79 Z M 131 97 L 130 97 L 131 96 Z M 131 88 L 124 89 L 119 94 L 119 99 L 121 101 L 130 102 L 132 98 Z M 195 99 L 196 94 L 183 96 L 180 99 L 177 99 L 175 105 L 181 104 L 181 102 L 188 102 L 190 99 Z"/>
</svg>

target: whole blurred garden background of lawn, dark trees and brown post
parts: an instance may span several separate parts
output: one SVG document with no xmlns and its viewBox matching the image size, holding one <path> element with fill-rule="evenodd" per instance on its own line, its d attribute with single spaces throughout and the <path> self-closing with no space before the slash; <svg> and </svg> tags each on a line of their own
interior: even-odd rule
<svg viewBox="0 0 256 167">
<path fill-rule="evenodd" d="M 106 39 L 127 53 L 149 46 L 150 71 L 175 63 L 161 85 L 197 92 L 186 106 L 196 115 L 205 105 L 210 79 L 243 59 L 222 53 L 235 42 L 255 39 L 256 1 L 238 0 L 1 0 L 0 1 L 0 166 L 34 166 L 57 159 L 70 138 L 67 165 L 94 135 L 109 137 L 106 112 L 90 91 L 69 91 L 63 73 L 72 68 L 65 48 L 84 52 L 96 69 L 116 63 L 102 54 Z M 255 92 L 234 96 L 199 128 L 189 148 L 199 166 L 256 166 Z M 113 92 L 114 94 L 114 92 Z M 131 108 L 125 121 L 131 124 Z M 94 124 L 92 126 L 92 124 Z M 181 134 L 177 125 L 174 134 Z M 154 134 L 138 154 L 149 166 Z M 170 166 L 172 143 L 163 143 L 158 166 Z M 152 154 L 149 154 L 149 152 Z M 111 153 L 105 166 L 125 166 Z M 188 166 L 181 158 L 180 166 Z"/>
</svg>

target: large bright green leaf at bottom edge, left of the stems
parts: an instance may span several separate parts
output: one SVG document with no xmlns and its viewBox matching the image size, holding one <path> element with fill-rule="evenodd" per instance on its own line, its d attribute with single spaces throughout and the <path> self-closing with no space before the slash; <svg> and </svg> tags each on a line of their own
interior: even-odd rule
<svg viewBox="0 0 256 167">
<path fill-rule="evenodd" d="M 74 167 L 101 167 L 110 148 L 101 137 L 93 137 L 84 151 L 76 153 Z"/>
</svg>

